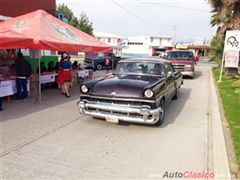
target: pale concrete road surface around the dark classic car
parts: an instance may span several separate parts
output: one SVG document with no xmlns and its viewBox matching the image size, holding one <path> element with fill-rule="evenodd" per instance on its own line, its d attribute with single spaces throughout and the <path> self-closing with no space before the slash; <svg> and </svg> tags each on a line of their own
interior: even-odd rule
<svg viewBox="0 0 240 180">
<path fill-rule="evenodd" d="M 184 79 L 161 127 L 81 115 L 78 91 L 48 108 L 13 105 L 1 113 L 2 179 L 159 179 L 211 171 L 210 66 L 200 63 L 195 79 Z"/>
</svg>

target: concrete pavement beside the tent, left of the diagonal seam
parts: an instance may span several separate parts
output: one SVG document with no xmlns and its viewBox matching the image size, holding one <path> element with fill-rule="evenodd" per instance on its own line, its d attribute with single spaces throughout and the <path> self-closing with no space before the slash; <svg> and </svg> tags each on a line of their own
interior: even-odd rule
<svg viewBox="0 0 240 180">
<path fill-rule="evenodd" d="M 96 71 L 93 79 L 106 73 L 104 70 Z M 71 98 L 63 96 L 59 89 L 44 89 L 41 103 L 36 102 L 34 96 L 23 101 L 4 102 L 4 110 L 0 112 L 0 154 L 7 154 L 79 118 L 77 108 L 79 86 L 78 84 L 72 87 Z"/>
</svg>

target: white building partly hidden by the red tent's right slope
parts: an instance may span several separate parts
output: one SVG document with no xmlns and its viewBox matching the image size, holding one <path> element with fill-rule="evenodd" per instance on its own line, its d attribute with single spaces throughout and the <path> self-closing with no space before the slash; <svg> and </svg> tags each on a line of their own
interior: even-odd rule
<svg viewBox="0 0 240 180">
<path fill-rule="evenodd" d="M 123 36 L 99 31 L 94 31 L 93 34 L 100 41 L 105 42 L 110 46 L 113 46 L 113 53 L 116 56 L 122 56 L 122 41 L 124 40 Z"/>
</svg>

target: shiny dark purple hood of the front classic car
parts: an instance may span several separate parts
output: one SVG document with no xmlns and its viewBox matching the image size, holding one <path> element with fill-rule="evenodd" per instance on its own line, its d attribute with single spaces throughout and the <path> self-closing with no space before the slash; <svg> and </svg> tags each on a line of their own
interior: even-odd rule
<svg viewBox="0 0 240 180">
<path fill-rule="evenodd" d="M 94 84 L 91 95 L 141 98 L 144 90 L 160 79 L 159 77 L 139 75 L 106 76 Z"/>
</svg>

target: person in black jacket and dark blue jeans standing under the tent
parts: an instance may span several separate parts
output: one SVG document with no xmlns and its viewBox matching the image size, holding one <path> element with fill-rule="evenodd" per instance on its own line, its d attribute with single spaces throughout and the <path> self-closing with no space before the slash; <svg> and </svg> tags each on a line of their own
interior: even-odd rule
<svg viewBox="0 0 240 180">
<path fill-rule="evenodd" d="M 15 60 L 16 65 L 16 84 L 17 84 L 17 99 L 25 99 L 27 93 L 27 78 L 32 73 L 31 65 L 23 58 L 23 54 L 19 52 Z"/>
</svg>

